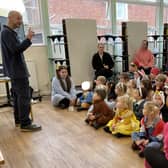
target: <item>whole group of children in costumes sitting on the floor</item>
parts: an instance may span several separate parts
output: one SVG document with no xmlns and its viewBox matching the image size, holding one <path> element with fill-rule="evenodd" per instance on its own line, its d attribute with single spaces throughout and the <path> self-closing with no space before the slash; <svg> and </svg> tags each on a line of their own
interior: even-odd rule
<svg viewBox="0 0 168 168">
<path fill-rule="evenodd" d="M 65 67 L 63 69 L 67 71 Z M 148 148 L 160 152 L 164 145 L 168 145 L 164 144 L 164 137 L 168 132 L 163 131 L 168 121 L 168 77 L 160 73 L 158 68 L 153 68 L 151 74 L 147 76 L 144 71 L 139 71 L 136 65 L 131 63 L 130 71 L 121 73 L 117 83 L 106 82 L 104 76 L 98 76 L 93 91 L 89 88 L 78 95 L 73 94 L 74 85 L 68 72 L 65 75 L 65 72 L 61 71 L 60 69 L 57 71 L 59 78 L 55 77 L 52 82 L 54 105 L 65 108 L 75 105 L 75 100 L 78 100 L 77 108 L 80 109 L 78 111 L 88 110 L 85 119 L 87 124 L 95 129 L 103 127 L 105 132 L 116 137 L 131 136 L 132 149 L 138 150 L 140 157 L 145 155 L 148 158 Z M 71 81 L 71 88 L 66 81 Z M 61 92 L 58 92 L 59 90 Z M 58 94 L 61 93 L 64 94 L 62 100 L 58 102 Z M 57 103 L 54 102 L 55 99 Z M 168 150 L 165 151 L 168 155 Z M 146 168 L 150 168 L 151 165 L 147 159 Z"/>
</svg>

